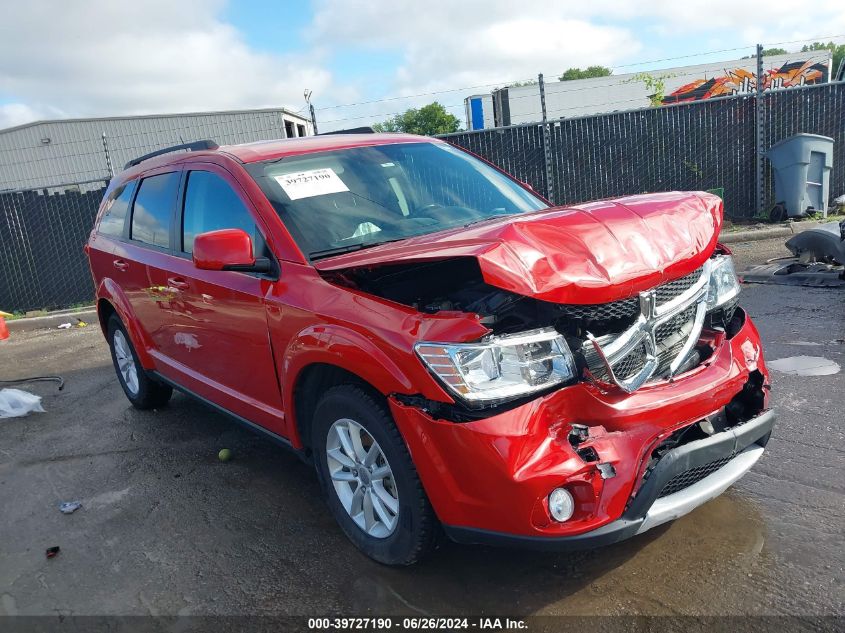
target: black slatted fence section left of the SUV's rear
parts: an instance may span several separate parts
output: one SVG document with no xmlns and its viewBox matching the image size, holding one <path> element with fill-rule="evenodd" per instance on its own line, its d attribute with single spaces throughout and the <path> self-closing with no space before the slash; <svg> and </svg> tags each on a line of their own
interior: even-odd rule
<svg viewBox="0 0 845 633">
<path fill-rule="evenodd" d="M 60 308 L 91 301 L 82 247 L 108 185 L 0 193 L 0 309 Z"/>
</svg>

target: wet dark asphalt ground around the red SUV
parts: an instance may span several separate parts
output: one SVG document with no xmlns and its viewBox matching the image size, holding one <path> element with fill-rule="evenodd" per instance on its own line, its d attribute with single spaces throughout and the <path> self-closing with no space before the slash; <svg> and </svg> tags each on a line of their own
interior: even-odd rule
<svg viewBox="0 0 845 633">
<path fill-rule="evenodd" d="M 740 269 L 786 254 L 733 249 Z M 845 294 L 748 286 L 742 302 L 767 358 L 845 365 Z M 96 327 L 0 345 L 0 378 L 48 373 L 64 391 L 28 387 L 47 413 L 0 420 L 0 614 L 843 613 L 841 371 L 775 374 L 762 460 L 671 525 L 576 554 L 446 543 L 409 569 L 360 555 L 283 449 L 180 394 L 132 409 Z"/>
</svg>

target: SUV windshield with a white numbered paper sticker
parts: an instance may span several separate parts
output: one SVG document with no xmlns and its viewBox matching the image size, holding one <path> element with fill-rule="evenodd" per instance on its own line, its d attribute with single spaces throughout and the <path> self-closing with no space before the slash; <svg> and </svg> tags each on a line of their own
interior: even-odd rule
<svg viewBox="0 0 845 633">
<path fill-rule="evenodd" d="M 397 143 L 247 165 L 309 259 L 548 205 L 445 143 Z"/>
</svg>

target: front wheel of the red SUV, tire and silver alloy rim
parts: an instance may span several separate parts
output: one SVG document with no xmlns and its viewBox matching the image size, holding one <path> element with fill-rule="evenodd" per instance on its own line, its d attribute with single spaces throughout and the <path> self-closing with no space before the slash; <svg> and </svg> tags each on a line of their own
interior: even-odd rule
<svg viewBox="0 0 845 633">
<path fill-rule="evenodd" d="M 370 558 L 410 565 L 434 547 L 436 518 L 386 406 L 340 385 L 317 404 L 311 446 L 329 508 Z"/>
</svg>

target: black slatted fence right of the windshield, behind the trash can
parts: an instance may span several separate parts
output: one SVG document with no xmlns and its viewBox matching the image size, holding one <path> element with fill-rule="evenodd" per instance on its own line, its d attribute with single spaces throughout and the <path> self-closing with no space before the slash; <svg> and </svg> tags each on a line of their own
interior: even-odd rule
<svg viewBox="0 0 845 633">
<path fill-rule="evenodd" d="M 759 123 L 754 95 L 549 121 L 548 153 L 543 123 L 442 138 L 527 182 L 555 204 L 653 191 L 722 189 L 725 214 L 741 219 L 758 214 L 759 124 L 766 148 L 798 132 L 832 137 L 830 193 L 845 193 L 845 83 L 766 92 L 762 99 L 764 117 Z M 765 212 L 774 203 L 768 163 L 763 184 Z"/>
</svg>

